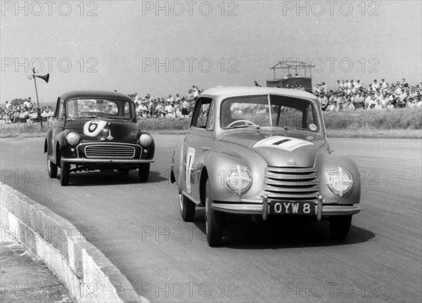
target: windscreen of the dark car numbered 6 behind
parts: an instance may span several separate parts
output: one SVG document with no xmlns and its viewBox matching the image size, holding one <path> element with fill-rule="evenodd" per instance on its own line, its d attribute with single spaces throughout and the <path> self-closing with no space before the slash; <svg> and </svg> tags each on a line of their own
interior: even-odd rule
<svg viewBox="0 0 422 303">
<path fill-rule="evenodd" d="M 134 118 L 132 104 L 119 99 L 76 98 L 68 101 L 66 112 L 69 119 L 92 117 L 132 120 Z"/>
</svg>

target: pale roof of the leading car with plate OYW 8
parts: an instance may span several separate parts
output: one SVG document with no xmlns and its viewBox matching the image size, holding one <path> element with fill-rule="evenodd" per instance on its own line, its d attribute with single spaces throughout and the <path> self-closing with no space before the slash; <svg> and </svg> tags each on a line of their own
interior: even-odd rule
<svg viewBox="0 0 422 303">
<path fill-rule="evenodd" d="M 278 87 L 262 86 L 217 86 L 203 91 L 202 95 L 209 96 L 236 96 L 236 95 L 260 95 L 276 94 L 283 96 L 292 96 L 298 98 L 316 98 L 313 94 L 298 89 L 280 89 Z"/>
</svg>

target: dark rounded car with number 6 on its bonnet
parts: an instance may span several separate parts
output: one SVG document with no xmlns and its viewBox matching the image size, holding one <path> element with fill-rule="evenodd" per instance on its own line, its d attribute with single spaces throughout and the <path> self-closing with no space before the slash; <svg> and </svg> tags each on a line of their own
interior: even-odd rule
<svg viewBox="0 0 422 303">
<path fill-rule="evenodd" d="M 53 127 L 47 131 L 44 153 L 49 176 L 69 183 L 70 172 L 115 169 L 122 174 L 139 169 L 148 180 L 154 162 L 154 141 L 136 123 L 135 104 L 114 91 L 71 91 L 57 99 Z"/>
</svg>

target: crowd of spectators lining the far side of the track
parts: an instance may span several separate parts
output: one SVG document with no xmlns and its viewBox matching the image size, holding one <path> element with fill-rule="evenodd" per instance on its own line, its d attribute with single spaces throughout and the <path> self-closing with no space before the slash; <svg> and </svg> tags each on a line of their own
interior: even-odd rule
<svg viewBox="0 0 422 303">
<path fill-rule="evenodd" d="M 260 86 L 255 82 L 255 86 Z M 290 89 L 305 91 L 302 85 L 292 85 Z M 167 98 L 155 98 L 147 94 L 144 97 L 139 94 L 129 94 L 136 105 L 136 113 L 139 118 L 175 118 L 191 115 L 196 98 L 203 92 L 198 86 L 192 86 L 186 96 L 169 94 Z M 410 86 L 406 79 L 401 82 L 385 82 L 381 79 L 373 80 L 366 88 L 359 80 L 337 80 L 335 90 L 328 91 L 324 82 L 316 84 L 312 93 L 321 103 L 321 108 L 327 112 L 340 110 L 385 110 L 393 108 L 421 108 L 422 107 L 422 82 L 416 86 Z M 37 108 L 31 98 L 23 103 L 9 103 L 0 107 L 0 121 L 6 124 L 34 122 L 51 122 L 54 116 L 53 106 L 41 106 Z"/>
</svg>

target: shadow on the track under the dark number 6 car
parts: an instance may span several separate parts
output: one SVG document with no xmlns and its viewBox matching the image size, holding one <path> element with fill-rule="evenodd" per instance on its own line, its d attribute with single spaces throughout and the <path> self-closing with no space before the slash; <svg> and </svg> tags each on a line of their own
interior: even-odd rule
<svg viewBox="0 0 422 303">
<path fill-rule="evenodd" d="M 75 174 L 70 174 L 69 186 L 108 186 L 132 183 L 148 184 L 160 183 L 162 181 L 167 181 L 167 178 L 156 171 L 151 171 L 148 181 L 143 183 L 139 182 L 138 171 L 132 171 L 128 174 L 121 174 L 120 172 L 77 172 Z"/>
</svg>

